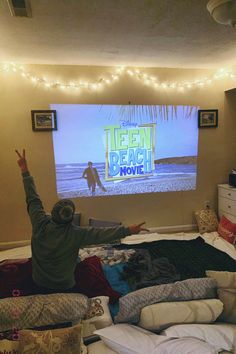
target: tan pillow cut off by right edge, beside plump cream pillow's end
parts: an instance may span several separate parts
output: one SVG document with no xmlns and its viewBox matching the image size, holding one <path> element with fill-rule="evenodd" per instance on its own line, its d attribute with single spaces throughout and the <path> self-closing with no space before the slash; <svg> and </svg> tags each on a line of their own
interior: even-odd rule
<svg viewBox="0 0 236 354">
<path fill-rule="evenodd" d="M 220 321 L 236 324 L 236 289 L 218 289 L 218 297 L 224 304 Z"/>
</svg>

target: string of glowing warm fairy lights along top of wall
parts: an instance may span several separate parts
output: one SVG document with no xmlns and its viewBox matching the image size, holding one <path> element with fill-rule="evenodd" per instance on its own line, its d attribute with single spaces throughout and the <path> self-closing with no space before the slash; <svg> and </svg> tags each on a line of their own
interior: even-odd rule
<svg viewBox="0 0 236 354">
<path fill-rule="evenodd" d="M 216 80 L 230 79 L 236 80 L 236 74 L 231 69 L 219 69 L 213 75 L 193 79 L 189 81 L 160 81 L 158 77 L 148 75 L 144 70 L 126 68 L 120 66 L 114 69 L 113 73 L 107 74 L 104 77 L 99 77 L 94 81 L 73 80 L 70 82 L 62 82 L 58 80 L 49 80 L 42 75 L 41 77 L 27 70 L 23 65 L 16 63 L 5 63 L 1 65 L 1 71 L 5 73 L 18 73 L 25 79 L 30 80 L 32 83 L 42 85 L 45 88 L 58 88 L 61 90 L 92 90 L 99 91 L 105 86 L 111 85 L 118 81 L 122 75 L 128 75 L 140 81 L 143 85 L 150 86 L 155 90 L 176 90 L 186 91 L 196 87 L 205 87 L 211 85 Z"/>
</svg>

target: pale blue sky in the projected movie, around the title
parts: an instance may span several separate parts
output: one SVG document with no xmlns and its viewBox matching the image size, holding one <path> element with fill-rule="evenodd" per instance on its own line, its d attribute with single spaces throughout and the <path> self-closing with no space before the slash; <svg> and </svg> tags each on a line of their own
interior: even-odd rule
<svg viewBox="0 0 236 354">
<path fill-rule="evenodd" d="M 51 104 L 51 109 L 57 111 L 58 123 L 58 130 L 53 131 L 55 163 L 104 162 L 104 127 L 119 125 L 124 120 L 120 108 L 120 105 Z M 157 117 L 155 159 L 197 156 L 198 107 L 192 110 L 189 106 L 175 108 L 176 115 L 172 117 L 172 106 L 168 106 L 168 120 Z M 188 118 L 186 108 L 191 111 Z M 139 115 L 137 118 L 132 117 L 132 122 L 144 124 L 152 120 L 148 111 L 142 110 L 141 121 Z"/>
</svg>

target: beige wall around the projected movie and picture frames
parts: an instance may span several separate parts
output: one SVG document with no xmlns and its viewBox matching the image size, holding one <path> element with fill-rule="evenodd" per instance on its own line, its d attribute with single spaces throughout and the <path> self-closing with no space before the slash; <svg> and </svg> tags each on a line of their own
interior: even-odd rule
<svg viewBox="0 0 236 354">
<path fill-rule="evenodd" d="M 64 81 L 82 78 L 97 80 L 113 72 L 105 67 L 31 66 L 32 73 Z M 209 72 L 202 70 L 145 69 L 162 81 L 190 80 Z M 212 72 L 211 72 L 212 73 Z M 211 74 L 210 73 L 210 74 Z M 199 130 L 197 189 L 187 192 L 114 196 L 76 199 L 82 223 L 89 216 L 121 220 L 124 224 L 146 221 L 147 227 L 194 223 L 193 211 L 203 207 L 205 200 L 217 205 L 217 184 L 227 182 L 228 172 L 236 167 L 235 92 L 224 94 L 226 80 L 215 81 L 207 88 L 188 92 L 159 90 L 143 85 L 124 74 L 121 79 L 99 93 L 80 94 L 46 89 L 22 78 L 18 73 L 0 73 L 0 241 L 29 239 L 28 220 L 21 175 L 16 163 L 15 148 L 25 147 L 31 174 L 45 209 L 50 211 L 57 200 L 54 156 L 50 132 L 33 132 L 32 109 L 49 109 L 50 103 L 109 104 L 186 104 L 219 109 L 219 127 Z"/>
</svg>

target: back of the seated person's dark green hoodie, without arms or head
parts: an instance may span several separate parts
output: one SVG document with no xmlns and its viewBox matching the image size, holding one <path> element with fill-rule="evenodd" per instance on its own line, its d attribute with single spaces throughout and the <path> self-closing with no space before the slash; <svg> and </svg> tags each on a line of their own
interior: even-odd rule
<svg viewBox="0 0 236 354">
<path fill-rule="evenodd" d="M 37 285 L 58 290 L 75 285 L 79 239 L 73 228 L 71 223 L 50 220 L 32 237 L 32 276 Z"/>
</svg>

